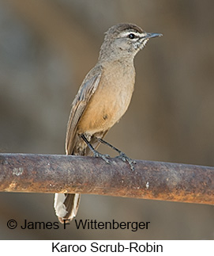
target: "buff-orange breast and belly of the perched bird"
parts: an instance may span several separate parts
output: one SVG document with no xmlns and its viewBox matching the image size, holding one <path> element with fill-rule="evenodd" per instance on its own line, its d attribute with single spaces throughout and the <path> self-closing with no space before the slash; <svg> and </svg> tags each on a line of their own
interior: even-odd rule
<svg viewBox="0 0 214 256">
<path fill-rule="evenodd" d="M 111 128 L 126 112 L 133 94 L 134 68 L 112 66 L 103 69 L 99 86 L 79 123 L 79 132 L 95 133 Z"/>
</svg>

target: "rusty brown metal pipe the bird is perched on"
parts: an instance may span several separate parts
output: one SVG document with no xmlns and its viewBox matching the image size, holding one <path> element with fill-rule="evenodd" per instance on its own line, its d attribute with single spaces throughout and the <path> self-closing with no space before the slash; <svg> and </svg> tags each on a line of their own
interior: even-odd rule
<svg viewBox="0 0 214 256">
<path fill-rule="evenodd" d="M 0 154 L 0 191 L 214 204 L 214 167 L 72 155 Z"/>
</svg>

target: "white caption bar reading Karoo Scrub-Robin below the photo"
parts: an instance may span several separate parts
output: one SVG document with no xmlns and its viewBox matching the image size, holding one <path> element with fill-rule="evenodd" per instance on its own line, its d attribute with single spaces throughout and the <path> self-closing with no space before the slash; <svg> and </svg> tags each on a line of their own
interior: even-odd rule
<svg viewBox="0 0 214 256">
<path fill-rule="evenodd" d="M 214 255 L 213 241 L 174 240 L 2 240 L 1 255 L 99 255 L 99 254 L 149 254 L 149 255 Z"/>
</svg>

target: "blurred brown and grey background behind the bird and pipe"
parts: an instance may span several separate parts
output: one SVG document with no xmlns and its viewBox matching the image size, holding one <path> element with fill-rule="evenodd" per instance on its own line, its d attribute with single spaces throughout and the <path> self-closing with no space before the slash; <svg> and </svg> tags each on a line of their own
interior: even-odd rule
<svg viewBox="0 0 214 256">
<path fill-rule="evenodd" d="M 133 99 L 107 141 L 133 159 L 214 165 L 214 2 L 0 1 L 0 148 L 65 154 L 70 105 L 103 32 L 132 22 L 163 37 L 135 59 Z M 106 147 L 99 151 L 110 153 Z M 0 193 L 0 239 L 214 239 L 210 205 L 84 195 L 77 220 L 150 221 L 148 230 L 9 230 L 57 221 L 53 195 Z"/>
</svg>

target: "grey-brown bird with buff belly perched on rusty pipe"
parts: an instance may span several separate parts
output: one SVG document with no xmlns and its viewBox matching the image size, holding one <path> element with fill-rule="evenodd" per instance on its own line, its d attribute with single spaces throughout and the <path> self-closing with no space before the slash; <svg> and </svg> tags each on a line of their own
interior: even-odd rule
<svg viewBox="0 0 214 256">
<path fill-rule="evenodd" d="M 66 155 L 94 155 L 109 163 L 109 155 L 96 151 L 103 143 L 118 151 L 118 157 L 134 170 L 135 162 L 103 137 L 130 105 L 135 83 L 134 56 L 157 36 L 162 34 L 145 32 L 131 23 L 114 25 L 105 32 L 98 62 L 85 76 L 71 106 Z M 62 224 L 77 215 L 80 197 L 79 193 L 55 194 L 54 209 Z"/>
</svg>

